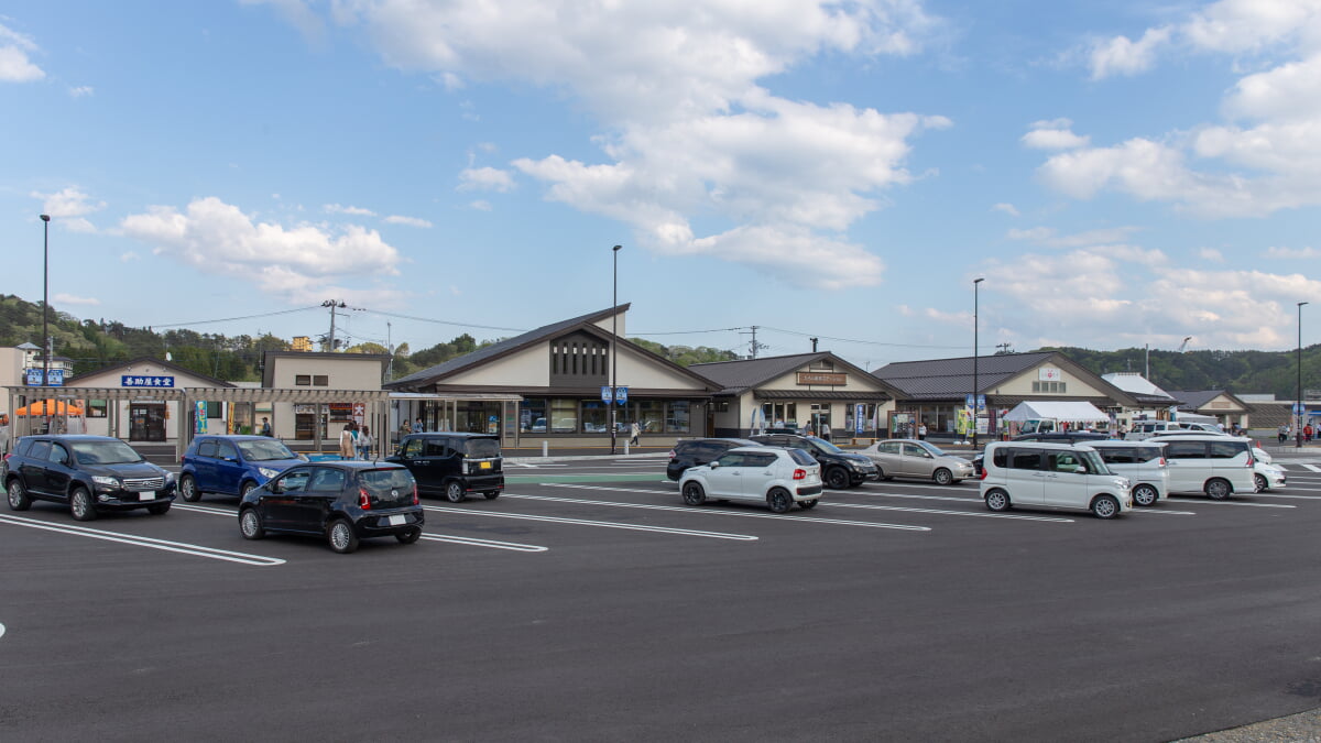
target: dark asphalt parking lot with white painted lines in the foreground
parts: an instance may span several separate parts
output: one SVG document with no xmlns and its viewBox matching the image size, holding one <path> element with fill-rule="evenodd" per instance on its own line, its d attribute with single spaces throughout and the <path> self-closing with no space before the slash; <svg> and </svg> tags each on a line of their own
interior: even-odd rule
<svg viewBox="0 0 1321 743">
<path fill-rule="evenodd" d="M 1172 740 L 1321 705 L 1321 456 L 1116 521 L 975 483 L 694 509 L 663 461 L 511 461 L 351 555 L 215 496 L 0 510 L 0 739 Z"/>
</svg>

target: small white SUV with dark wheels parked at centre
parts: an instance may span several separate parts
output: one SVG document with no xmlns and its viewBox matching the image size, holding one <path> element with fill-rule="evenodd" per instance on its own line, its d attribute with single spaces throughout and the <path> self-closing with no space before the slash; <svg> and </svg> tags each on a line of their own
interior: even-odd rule
<svg viewBox="0 0 1321 743">
<path fill-rule="evenodd" d="M 760 501 L 775 513 L 795 502 L 808 509 L 822 497 L 822 467 L 803 450 L 740 447 L 686 469 L 679 492 L 688 505 L 711 498 Z"/>
</svg>

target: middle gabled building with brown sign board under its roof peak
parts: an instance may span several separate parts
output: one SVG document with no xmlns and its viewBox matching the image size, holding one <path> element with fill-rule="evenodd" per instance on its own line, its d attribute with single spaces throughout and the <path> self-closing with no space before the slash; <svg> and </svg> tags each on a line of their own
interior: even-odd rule
<svg viewBox="0 0 1321 743">
<path fill-rule="evenodd" d="M 749 436 L 766 428 L 828 426 L 835 442 L 884 438 L 898 390 L 831 352 L 694 364 L 720 385 L 711 434 Z"/>
</svg>

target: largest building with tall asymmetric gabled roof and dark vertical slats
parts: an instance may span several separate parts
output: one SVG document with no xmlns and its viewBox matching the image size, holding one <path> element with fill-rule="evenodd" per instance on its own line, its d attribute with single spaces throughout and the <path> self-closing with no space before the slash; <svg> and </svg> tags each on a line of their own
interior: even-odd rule
<svg viewBox="0 0 1321 743">
<path fill-rule="evenodd" d="M 437 398 L 399 398 L 403 420 L 421 418 L 425 430 L 498 432 L 506 446 L 528 438 L 608 443 L 612 411 L 618 431 L 637 422 L 642 439 L 705 435 L 716 383 L 627 342 L 629 308 L 542 325 L 384 387 Z M 621 403 L 604 399 L 614 382 L 626 389 Z"/>
</svg>

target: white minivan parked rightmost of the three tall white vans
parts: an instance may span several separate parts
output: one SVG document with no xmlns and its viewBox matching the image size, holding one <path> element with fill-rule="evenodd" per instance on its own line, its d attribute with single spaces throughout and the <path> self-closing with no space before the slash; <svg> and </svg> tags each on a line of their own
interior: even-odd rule
<svg viewBox="0 0 1321 743">
<path fill-rule="evenodd" d="M 1172 493 L 1206 493 L 1219 501 L 1256 488 L 1251 439 L 1184 432 L 1148 440 L 1165 444 Z"/>
</svg>

